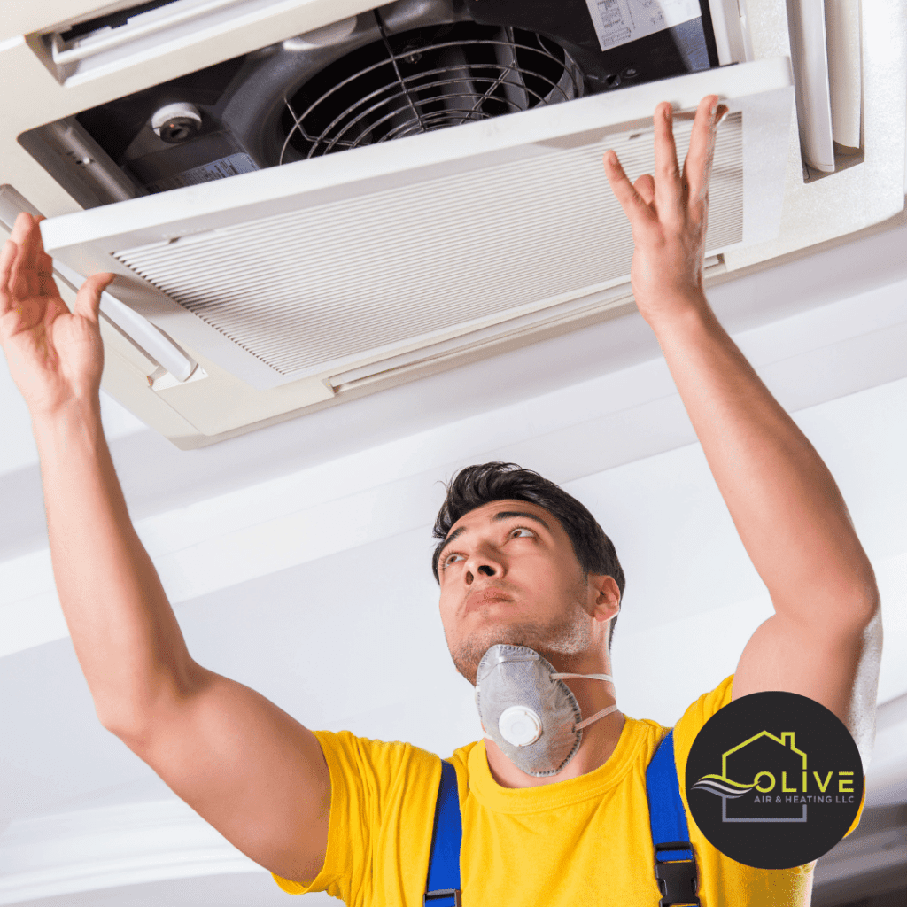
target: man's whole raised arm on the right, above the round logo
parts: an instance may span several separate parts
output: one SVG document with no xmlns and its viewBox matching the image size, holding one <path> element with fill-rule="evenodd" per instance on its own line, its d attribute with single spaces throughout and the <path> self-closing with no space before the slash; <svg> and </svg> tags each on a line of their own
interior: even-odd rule
<svg viewBox="0 0 907 907">
<path fill-rule="evenodd" d="M 655 113 L 656 173 L 631 185 L 605 156 L 633 229 L 633 290 L 775 615 L 747 643 L 734 697 L 786 690 L 850 728 L 868 762 L 882 650 L 879 593 L 831 473 L 718 324 L 703 288 L 717 96 L 700 102 L 683 171 L 670 105 Z"/>
</svg>

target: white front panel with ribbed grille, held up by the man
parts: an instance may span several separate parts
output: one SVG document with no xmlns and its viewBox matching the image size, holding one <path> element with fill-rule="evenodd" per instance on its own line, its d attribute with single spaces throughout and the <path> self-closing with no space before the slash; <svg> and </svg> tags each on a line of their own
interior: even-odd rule
<svg viewBox="0 0 907 907">
<path fill-rule="evenodd" d="M 730 108 L 713 256 L 777 235 L 790 66 L 675 79 L 681 155 L 708 91 Z M 117 273 L 112 296 L 257 390 L 315 378 L 333 393 L 344 373 L 626 284 L 632 237 L 602 155 L 652 171 L 663 92 L 649 83 L 512 114 L 506 128 L 473 122 L 124 201 L 48 221 L 44 242 L 81 273 Z"/>
</svg>

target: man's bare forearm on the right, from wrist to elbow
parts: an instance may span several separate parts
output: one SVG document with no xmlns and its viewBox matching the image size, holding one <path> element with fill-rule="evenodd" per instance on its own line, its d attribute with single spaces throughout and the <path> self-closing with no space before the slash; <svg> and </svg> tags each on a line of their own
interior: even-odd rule
<svg viewBox="0 0 907 907">
<path fill-rule="evenodd" d="M 653 328 L 775 610 L 811 622 L 819 609 L 867 619 L 873 569 L 831 473 L 705 298 Z"/>
</svg>

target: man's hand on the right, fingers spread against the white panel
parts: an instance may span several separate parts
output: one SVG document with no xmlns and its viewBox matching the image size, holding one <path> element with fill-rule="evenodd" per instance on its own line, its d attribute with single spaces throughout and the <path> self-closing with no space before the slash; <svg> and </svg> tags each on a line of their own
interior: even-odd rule
<svg viewBox="0 0 907 907">
<path fill-rule="evenodd" d="M 659 319 L 707 305 L 702 268 L 708 181 L 716 124 L 727 113 L 724 104 L 712 113 L 717 102 L 717 94 L 709 94 L 699 102 L 682 173 L 668 102 L 655 109 L 654 179 L 646 173 L 631 184 L 617 154 L 608 151 L 604 157 L 611 190 L 633 229 L 633 295 L 639 313 L 652 327 Z"/>
</svg>

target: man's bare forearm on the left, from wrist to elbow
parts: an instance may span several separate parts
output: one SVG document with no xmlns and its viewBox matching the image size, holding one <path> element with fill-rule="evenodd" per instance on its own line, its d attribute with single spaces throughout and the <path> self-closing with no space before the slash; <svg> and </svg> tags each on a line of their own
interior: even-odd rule
<svg viewBox="0 0 907 907">
<path fill-rule="evenodd" d="M 185 682 L 180 627 L 139 540 L 104 439 L 99 405 L 33 418 L 54 580 L 105 727 L 128 727 Z"/>
</svg>

